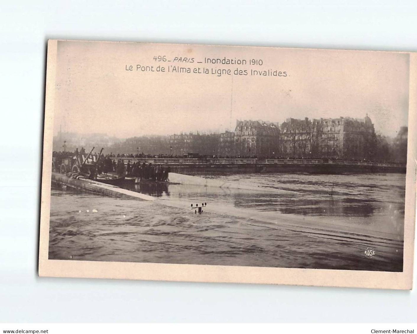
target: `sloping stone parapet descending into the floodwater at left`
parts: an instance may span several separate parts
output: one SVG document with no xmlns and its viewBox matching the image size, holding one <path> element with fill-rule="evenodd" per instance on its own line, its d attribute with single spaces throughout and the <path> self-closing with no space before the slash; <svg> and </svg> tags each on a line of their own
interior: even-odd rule
<svg viewBox="0 0 417 334">
<path fill-rule="evenodd" d="M 111 197 L 136 199 L 140 201 L 155 200 L 155 197 L 123 189 L 117 186 L 113 186 L 111 184 L 106 184 L 90 179 L 75 179 L 68 177 L 65 174 L 60 174 L 56 172 L 52 172 L 51 182 L 53 184 L 57 184 L 64 187 L 70 187 L 79 191 L 93 192 L 95 194 L 102 194 Z"/>
</svg>

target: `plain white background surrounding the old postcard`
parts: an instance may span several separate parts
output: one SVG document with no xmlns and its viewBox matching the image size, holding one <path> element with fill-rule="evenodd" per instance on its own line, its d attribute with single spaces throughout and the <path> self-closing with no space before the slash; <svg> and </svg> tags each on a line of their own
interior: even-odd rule
<svg viewBox="0 0 417 334">
<path fill-rule="evenodd" d="M 417 51 L 416 21 L 415 1 L 1 1 L 0 322 L 416 322 L 415 289 L 37 277 L 48 38 Z"/>
</svg>

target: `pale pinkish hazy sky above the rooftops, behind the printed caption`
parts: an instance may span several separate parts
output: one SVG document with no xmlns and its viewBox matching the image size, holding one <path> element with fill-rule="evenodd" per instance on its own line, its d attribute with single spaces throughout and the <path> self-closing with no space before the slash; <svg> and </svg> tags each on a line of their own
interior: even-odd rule
<svg viewBox="0 0 417 334">
<path fill-rule="evenodd" d="M 194 57 L 194 63 L 154 56 Z M 204 57 L 245 59 L 210 65 Z M 263 65 L 249 65 L 261 59 Z M 249 75 L 136 71 L 136 65 L 247 70 Z M 126 71 L 132 65 L 133 71 Z M 277 70 L 287 77 L 251 76 Z M 395 136 L 407 125 L 409 55 L 203 45 L 58 42 L 54 133 L 101 132 L 117 137 L 234 130 L 236 119 L 369 115 L 375 130 Z"/>
</svg>

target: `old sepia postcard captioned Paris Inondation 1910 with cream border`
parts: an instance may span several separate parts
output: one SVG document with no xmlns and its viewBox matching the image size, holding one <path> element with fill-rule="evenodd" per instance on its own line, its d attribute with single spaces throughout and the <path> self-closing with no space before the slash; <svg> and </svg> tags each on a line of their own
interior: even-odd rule
<svg viewBox="0 0 417 334">
<path fill-rule="evenodd" d="M 40 275 L 411 288 L 411 57 L 50 40 Z"/>
</svg>

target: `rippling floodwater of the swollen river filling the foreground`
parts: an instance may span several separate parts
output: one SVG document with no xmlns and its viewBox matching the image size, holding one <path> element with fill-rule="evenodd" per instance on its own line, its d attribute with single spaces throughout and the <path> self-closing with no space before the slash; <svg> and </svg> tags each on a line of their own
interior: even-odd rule
<svg viewBox="0 0 417 334">
<path fill-rule="evenodd" d="M 405 174 L 205 177 L 290 192 L 128 186 L 159 199 L 142 202 L 53 188 L 50 259 L 402 271 Z"/>
</svg>

